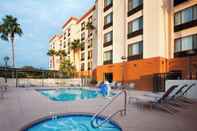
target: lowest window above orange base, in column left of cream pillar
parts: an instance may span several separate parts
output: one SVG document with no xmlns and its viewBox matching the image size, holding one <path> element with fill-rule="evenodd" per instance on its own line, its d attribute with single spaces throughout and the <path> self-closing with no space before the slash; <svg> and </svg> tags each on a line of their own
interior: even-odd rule
<svg viewBox="0 0 197 131">
<path fill-rule="evenodd" d="M 128 57 L 141 55 L 143 53 L 143 42 L 137 42 L 128 46 Z"/>
</svg>

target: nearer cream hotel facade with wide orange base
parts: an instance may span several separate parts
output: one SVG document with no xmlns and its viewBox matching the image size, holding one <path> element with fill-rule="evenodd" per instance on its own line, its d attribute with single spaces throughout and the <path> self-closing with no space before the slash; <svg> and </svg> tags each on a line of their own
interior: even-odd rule
<svg viewBox="0 0 197 131">
<path fill-rule="evenodd" d="M 196 79 L 196 0 L 97 0 L 93 12 L 97 81 L 134 82 L 152 90 L 156 74 Z"/>
</svg>

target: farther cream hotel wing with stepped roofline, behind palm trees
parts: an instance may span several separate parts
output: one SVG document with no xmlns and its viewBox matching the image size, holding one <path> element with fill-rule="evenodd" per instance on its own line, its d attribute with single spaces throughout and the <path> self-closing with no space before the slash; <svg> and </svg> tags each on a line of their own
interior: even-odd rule
<svg viewBox="0 0 197 131">
<path fill-rule="evenodd" d="M 61 38 L 56 38 L 57 35 L 52 37 L 49 41 L 51 45 L 55 45 L 55 51 L 64 50 L 66 52 L 65 59 L 70 60 L 77 69 L 79 76 L 91 76 L 92 75 L 92 45 L 94 30 L 86 28 L 88 23 L 95 23 L 95 6 L 91 7 L 83 16 L 79 19 L 76 17 L 70 17 L 62 26 Z M 80 40 L 82 47 L 77 52 L 71 49 L 71 44 L 74 40 Z M 54 62 L 53 62 L 54 60 Z M 49 60 L 49 67 L 52 70 L 59 70 L 60 56 L 51 56 Z M 55 66 L 52 66 L 52 63 Z"/>
</svg>

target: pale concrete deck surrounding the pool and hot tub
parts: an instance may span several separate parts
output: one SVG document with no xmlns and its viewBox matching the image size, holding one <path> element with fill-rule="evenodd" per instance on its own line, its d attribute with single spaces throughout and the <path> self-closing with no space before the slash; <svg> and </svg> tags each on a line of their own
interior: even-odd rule
<svg viewBox="0 0 197 131">
<path fill-rule="evenodd" d="M 140 91 L 129 91 L 129 96 Z M 53 113 L 96 113 L 109 100 L 96 98 L 71 102 L 55 102 L 42 96 L 34 89 L 9 88 L 5 98 L 0 99 L 0 131 L 19 131 L 30 122 Z M 123 106 L 123 97 L 118 99 L 102 115 L 107 115 Z M 127 105 L 125 117 L 116 116 L 123 131 L 197 131 L 197 103 L 179 108 L 179 112 L 169 114 L 163 111 L 140 109 Z"/>
</svg>

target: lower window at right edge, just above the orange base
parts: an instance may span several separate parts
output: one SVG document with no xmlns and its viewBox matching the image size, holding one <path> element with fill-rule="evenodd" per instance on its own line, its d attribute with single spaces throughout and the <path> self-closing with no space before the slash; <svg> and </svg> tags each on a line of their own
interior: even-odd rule
<svg viewBox="0 0 197 131">
<path fill-rule="evenodd" d="M 187 36 L 175 40 L 175 53 L 197 49 L 197 35 Z"/>
</svg>

